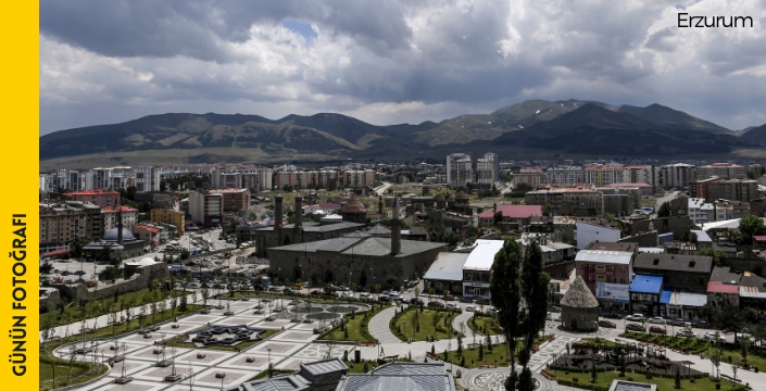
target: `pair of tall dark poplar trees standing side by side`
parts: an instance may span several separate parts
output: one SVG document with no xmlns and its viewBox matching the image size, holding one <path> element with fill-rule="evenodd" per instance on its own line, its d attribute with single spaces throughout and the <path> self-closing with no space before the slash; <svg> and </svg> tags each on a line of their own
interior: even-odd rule
<svg viewBox="0 0 766 391">
<path fill-rule="evenodd" d="M 542 250 L 537 241 L 527 247 L 526 256 L 515 240 L 505 240 L 492 264 L 490 293 L 499 310 L 498 320 L 508 343 L 511 376 L 506 390 L 532 391 L 535 381 L 529 360 L 535 337 L 545 326 L 551 277 L 543 270 Z M 517 338 L 519 340 L 517 340 Z M 516 374 L 516 348 L 522 343 L 518 361 L 523 366 Z"/>
</svg>

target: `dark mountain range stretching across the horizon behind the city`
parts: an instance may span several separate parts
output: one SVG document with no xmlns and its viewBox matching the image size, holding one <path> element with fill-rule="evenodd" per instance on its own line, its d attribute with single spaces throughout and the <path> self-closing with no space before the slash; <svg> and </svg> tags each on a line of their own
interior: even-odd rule
<svg viewBox="0 0 766 391">
<path fill-rule="evenodd" d="M 660 104 L 529 100 L 440 123 L 377 126 L 319 113 L 168 113 L 40 137 L 41 165 L 332 161 L 443 156 L 453 151 L 515 154 L 670 156 L 763 149 L 766 125 L 732 131 Z"/>
</svg>

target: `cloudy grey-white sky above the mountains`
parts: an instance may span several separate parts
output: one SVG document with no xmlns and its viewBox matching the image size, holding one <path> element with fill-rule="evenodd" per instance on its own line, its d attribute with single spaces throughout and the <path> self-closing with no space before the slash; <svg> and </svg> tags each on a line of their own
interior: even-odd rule
<svg viewBox="0 0 766 391">
<path fill-rule="evenodd" d="M 678 28 L 678 12 L 753 28 Z M 376 124 L 527 99 L 766 123 L 761 0 L 40 1 L 40 134 L 166 112 Z"/>
</svg>

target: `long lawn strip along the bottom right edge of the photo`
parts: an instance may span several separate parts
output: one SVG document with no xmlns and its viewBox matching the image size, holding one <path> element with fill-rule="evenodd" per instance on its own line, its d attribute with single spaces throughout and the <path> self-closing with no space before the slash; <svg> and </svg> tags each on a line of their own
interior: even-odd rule
<svg viewBox="0 0 766 391">
<path fill-rule="evenodd" d="M 577 378 L 578 381 L 575 383 L 578 386 L 578 388 L 582 388 L 586 390 L 590 390 L 593 387 L 593 383 L 591 382 L 591 376 L 590 373 L 588 374 L 574 374 L 569 373 L 569 375 L 565 375 L 564 371 L 557 370 L 557 371 L 551 371 L 551 374 L 554 374 L 556 376 L 556 380 L 568 380 L 573 381 L 574 378 Z M 610 387 L 612 386 L 612 380 L 615 379 L 621 379 L 621 380 L 630 380 L 637 381 L 637 382 L 646 382 L 646 383 L 652 383 L 652 384 L 657 384 L 657 390 L 689 390 L 689 391 L 714 391 L 715 390 L 715 382 L 712 381 L 712 378 L 702 378 L 702 379 L 696 379 L 695 382 L 691 382 L 689 379 L 681 379 L 681 388 L 676 389 L 676 380 L 674 378 L 661 378 L 661 377 L 652 377 L 651 379 L 646 379 L 644 375 L 641 374 L 631 374 L 627 371 L 625 374 L 625 377 L 620 378 L 619 377 L 619 371 L 608 371 L 608 373 L 599 373 L 599 377 L 597 379 L 595 386 L 598 389 L 604 389 L 608 390 Z M 734 386 L 730 381 L 721 381 L 720 382 L 721 390 L 736 390 Z M 737 387 L 741 388 L 743 387 L 742 384 L 738 384 Z"/>
</svg>

